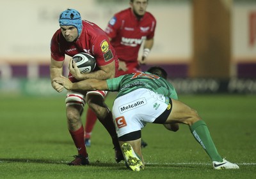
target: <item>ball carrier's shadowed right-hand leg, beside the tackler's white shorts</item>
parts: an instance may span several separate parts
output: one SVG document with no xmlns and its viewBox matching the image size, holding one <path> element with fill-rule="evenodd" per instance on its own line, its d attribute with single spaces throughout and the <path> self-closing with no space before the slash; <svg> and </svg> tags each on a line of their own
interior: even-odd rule
<svg viewBox="0 0 256 179">
<path fill-rule="evenodd" d="M 104 97 L 97 93 L 90 93 L 86 95 L 86 103 L 95 112 L 100 123 L 104 125 L 111 136 L 115 148 L 116 162 L 124 160 L 113 123 L 113 116 L 108 106 L 104 103 Z"/>
</svg>

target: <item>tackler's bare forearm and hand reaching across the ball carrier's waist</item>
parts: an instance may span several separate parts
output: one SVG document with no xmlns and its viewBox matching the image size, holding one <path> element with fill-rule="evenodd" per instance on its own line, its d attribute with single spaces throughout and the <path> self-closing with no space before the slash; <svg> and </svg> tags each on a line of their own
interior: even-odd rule
<svg viewBox="0 0 256 179">
<path fill-rule="evenodd" d="M 65 76 L 56 77 L 54 82 L 62 85 L 67 90 L 72 91 L 87 91 L 87 90 L 108 90 L 106 80 L 87 79 L 80 82 L 72 83 Z"/>
</svg>

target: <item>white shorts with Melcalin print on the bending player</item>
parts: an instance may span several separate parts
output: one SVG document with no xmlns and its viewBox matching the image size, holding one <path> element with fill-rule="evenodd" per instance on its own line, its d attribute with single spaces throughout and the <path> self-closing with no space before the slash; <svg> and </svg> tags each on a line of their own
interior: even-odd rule
<svg viewBox="0 0 256 179">
<path fill-rule="evenodd" d="M 168 101 L 168 97 L 148 89 L 137 89 L 115 99 L 113 120 L 118 137 L 154 122 L 166 110 Z"/>
</svg>

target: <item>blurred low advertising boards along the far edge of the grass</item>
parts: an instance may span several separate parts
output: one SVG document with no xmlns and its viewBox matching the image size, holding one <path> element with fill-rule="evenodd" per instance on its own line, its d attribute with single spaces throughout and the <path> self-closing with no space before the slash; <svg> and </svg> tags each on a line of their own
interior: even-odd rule
<svg viewBox="0 0 256 179">
<path fill-rule="evenodd" d="M 172 78 L 178 94 L 256 94 L 256 79 L 231 78 L 220 80 L 214 78 Z M 12 78 L 0 80 L 0 94 L 19 94 L 26 96 L 60 96 L 66 90 L 58 93 L 52 89 L 49 78 L 25 79 Z"/>
</svg>

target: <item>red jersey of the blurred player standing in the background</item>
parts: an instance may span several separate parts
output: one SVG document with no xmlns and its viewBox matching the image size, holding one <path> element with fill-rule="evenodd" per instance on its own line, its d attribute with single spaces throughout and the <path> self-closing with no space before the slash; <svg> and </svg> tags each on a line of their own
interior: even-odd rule
<svg viewBox="0 0 256 179">
<path fill-rule="evenodd" d="M 115 48 L 118 59 L 125 61 L 127 66 L 138 66 L 138 52 L 144 39 L 154 37 L 156 18 L 146 12 L 138 20 L 131 8 L 120 11 L 109 20 L 105 32 L 111 38 L 111 45 Z"/>
</svg>

